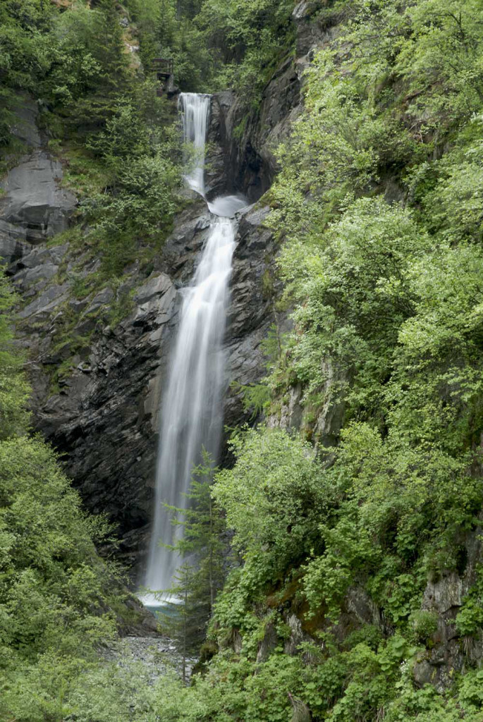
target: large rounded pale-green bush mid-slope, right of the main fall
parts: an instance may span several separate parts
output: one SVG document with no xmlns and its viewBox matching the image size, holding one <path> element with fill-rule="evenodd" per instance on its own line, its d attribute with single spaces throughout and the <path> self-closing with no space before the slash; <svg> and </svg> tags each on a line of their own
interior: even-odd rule
<svg viewBox="0 0 483 722">
<path fill-rule="evenodd" d="M 427 245 L 411 214 L 360 199 L 323 235 L 284 248 L 282 275 L 303 299 L 293 316 L 303 335 L 292 368 L 309 394 L 326 388 L 330 357 L 338 369 L 333 398 L 350 386 L 354 409 L 380 408 L 399 328 L 412 315 L 409 269 Z"/>
</svg>

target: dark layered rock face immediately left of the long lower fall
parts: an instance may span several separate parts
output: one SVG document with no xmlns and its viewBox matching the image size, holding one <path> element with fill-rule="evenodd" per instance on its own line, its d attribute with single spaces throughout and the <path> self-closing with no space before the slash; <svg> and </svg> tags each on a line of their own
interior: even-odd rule
<svg viewBox="0 0 483 722">
<path fill-rule="evenodd" d="M 196 223 L 188 224 L 188 230 L 193 231 Z M 183 242 L 189 245 L 187 236 L 188 232 Z M 191 240 L 195 247 L 201 243 L 196 232 Z M 43 250 L 36 254 L 38 266 L 31 269 L 38 278 L 50 273 L 53 263 L 51 251 Z M 24 291 L 29 279 L 25 269 L 13 275 L 14 284 Z M 84 351 L 78 350 L 74 357 L 69 344 L 58 350 L 66 302 L 74 302 L 68 282 L 41 290 L 19 313 L 19 331 L 34 361 L 35 425 L 56 448 L 68 453 L 66 471 L 87 507 L 94 513 L 107 512 L 118 523 L 126 535 L 127 554 L 131 544 L 139 546 L 139 536 L 136 541 L 133 536 L 149 520 L 157 450 L 154 410 L 159 406 L 177 318 L 173 280 L 155 271 L 142 282 L 134 271 L 126 281 L 128 288 L 118 290 L 119 295 L 129 287 L 135 289 L 134 308 L 112 328 L 108 315 L 116 300 L 113 290 L 107 287 L 97 292 L 80 307 L 77 302 L 77 324 L 71 336 L 75 339 L 87 332 L 90 338 Z M 53 393 L 48 370 L 62 362 L 64 349 L 71 368 L 60 390 Z"/>
</svg>

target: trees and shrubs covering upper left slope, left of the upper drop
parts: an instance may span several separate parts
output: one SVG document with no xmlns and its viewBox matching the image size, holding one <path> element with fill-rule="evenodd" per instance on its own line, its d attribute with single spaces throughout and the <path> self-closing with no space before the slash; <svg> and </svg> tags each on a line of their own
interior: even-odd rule
<svg viewBox="0 0 483 722">
<path fill-rule="evenodd" d="M 12 135 L 22 93 L 38 100 L 48 147 L 79 197 L 82 244 L 103 266 L 93 287 L 159 251 L 180 204 L 180 148 L 173 113 L 129 52 L 134 39 L 113 0 L 66 8 L 9 1 L 0 8 L 0 147 Z M 73 238 L 77 239 L 78 235 Z M 64 242 L 66 238 L 59 239 Z"/>
</svg>

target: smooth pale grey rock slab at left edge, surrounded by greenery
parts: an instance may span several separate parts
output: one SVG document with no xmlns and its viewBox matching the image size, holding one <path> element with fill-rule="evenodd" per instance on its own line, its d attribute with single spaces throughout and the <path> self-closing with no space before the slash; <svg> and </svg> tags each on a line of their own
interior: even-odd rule
<svg viewBox="0 0 483 722">
<path fill-rule="evenodd" d="M 42 150 L 22 158 L 9 171 L 1 183 L 5 195 L 0 199 L 4 252 L 12 253 L 12 243 L 40 243 L 66 230 L 77 201 L 73 193 L 59 188 L 61 178 L 61 163 Z"/>
</svg>

